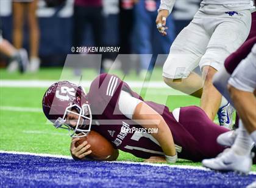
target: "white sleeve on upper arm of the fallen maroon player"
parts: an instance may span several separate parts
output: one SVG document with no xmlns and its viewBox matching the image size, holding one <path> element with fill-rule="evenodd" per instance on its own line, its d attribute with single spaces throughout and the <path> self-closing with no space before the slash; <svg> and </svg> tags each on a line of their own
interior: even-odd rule
<svg viewBox="0 0 256 188">
<path fill-rule="evenodd" d="M 143 101 L 133 97 L 132 95 L 130 95 L 130 93 L 125 92 L 124 90 L 121 90 L 118 106 L 119 106 L 119 110 L 127 118 L 132 119 L 133 113 L 140 102 L 143 102 Z"/>
</svg>

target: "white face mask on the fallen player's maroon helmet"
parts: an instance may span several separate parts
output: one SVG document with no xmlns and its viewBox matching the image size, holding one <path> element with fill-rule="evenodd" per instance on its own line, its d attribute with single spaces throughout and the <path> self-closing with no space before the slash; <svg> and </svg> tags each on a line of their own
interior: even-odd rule
<svg viewBox="0 0 256 188">
<path fill-rule="evenodd" d="M 73 110 L 76 109 L 76 110 Z M 69 113 L 72 113 L 78 116 L 76 122 L 76 126 L 70 126 L 68 123 L 67 116 Z M 72 137 L 83 137 L 86 136 L 91 130 L 92 116 L 91 109 L 89 104 L 82 105 L 82 108 L 77 104 L 73 104 L 71 106 L 66 107 L 63 118 L 56 119 L 54 123 L 54 127 L 56 129 L 67 129 L 69 131 L 69 135 Z M 78 135 L 77 132 L 82 133 L 82 135 Z"/>
</svg>

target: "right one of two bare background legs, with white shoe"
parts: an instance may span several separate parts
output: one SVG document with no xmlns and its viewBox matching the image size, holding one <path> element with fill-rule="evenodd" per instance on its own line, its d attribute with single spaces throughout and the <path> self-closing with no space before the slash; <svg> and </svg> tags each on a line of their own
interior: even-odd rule
<svg viewBox="0 0 256 188">
<path fill-rule="evenodd" d="M 30 71 L 32 72 L 36 72 L 40 67 L 40 59 L 38 58 L 40 32 L 36 15 L 37 3 L 38 0 L 27 3 L 27 21 L 29 23 L 30 37 Z"/>
</svg>

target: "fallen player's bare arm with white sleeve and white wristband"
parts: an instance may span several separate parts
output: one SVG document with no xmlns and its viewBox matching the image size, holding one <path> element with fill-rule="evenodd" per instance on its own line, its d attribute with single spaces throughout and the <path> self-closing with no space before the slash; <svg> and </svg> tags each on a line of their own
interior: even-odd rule
<svg viewBox="0 0 256 188">
<path fill-rule="evenodd" d="M 119 96 L 119 110 L 133 119 L 133 121 L 140 124 L 140 126 L 148 128 L 157 128 L 157 133 L 152 133 L 152 136 L 158 141 L 166 155 L 168 163 L 175 163 L 177 160 L 177 153 L 172 138 L 171 130 L 165 122 L 163 117 L 155 112 L 148 104 L 140 99 L 134 98 L 130 93 L 121 91 Z"/>
</svg>

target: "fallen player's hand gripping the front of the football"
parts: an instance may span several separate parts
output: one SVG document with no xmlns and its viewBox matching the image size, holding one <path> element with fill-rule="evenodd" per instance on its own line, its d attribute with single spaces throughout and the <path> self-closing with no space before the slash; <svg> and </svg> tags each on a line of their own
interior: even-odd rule
<svg viewBox="0 0 256 188">
<path fill-rule="evenodd" d="M 73 159 L 84 159 L 85 156 L 90 155 L 91 150 L 90 144 L 87 143 L 87 141 L 84 141 L 84 143 L 80 144 L 76 147 L 76 142 L 79 141 L 80 138 L 73 138 L 70 144 L 70 153 L 73 157 Z"/>
</svg>

